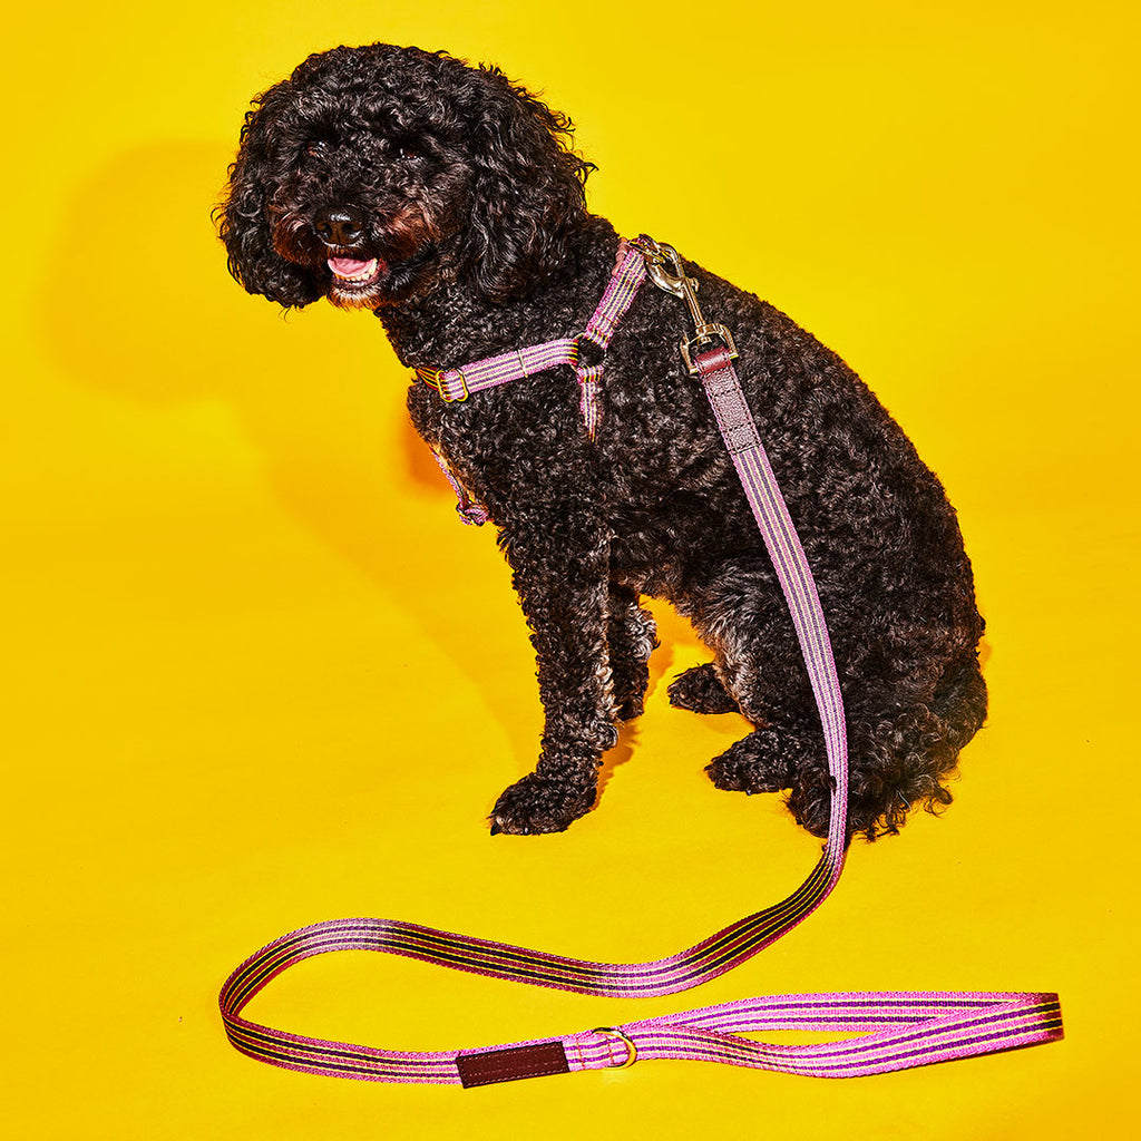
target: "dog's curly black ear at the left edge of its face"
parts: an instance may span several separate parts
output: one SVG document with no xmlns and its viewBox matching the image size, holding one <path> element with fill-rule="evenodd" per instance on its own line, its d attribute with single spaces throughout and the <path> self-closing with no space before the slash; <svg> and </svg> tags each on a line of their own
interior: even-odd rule
<svg viewBox="0 0 1141 1141">
<path fill-rule="evenodd" d="M 246 292 L 301 308 L 321 298 L 321 290 L 313 274 L 274 250 L 267 209 L 277 177 L 268 141 L 274 107 L 285 86 L 270 88 L 246 113 L 226 199 L 213 218 L 226 245 L 229 272 Z"/>
</svg>

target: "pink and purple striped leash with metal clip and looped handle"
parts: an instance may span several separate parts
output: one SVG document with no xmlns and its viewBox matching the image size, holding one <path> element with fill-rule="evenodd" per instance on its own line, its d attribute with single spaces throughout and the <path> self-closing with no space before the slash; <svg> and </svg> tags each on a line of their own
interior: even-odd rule
<svg viewBox="0 0 1141 1141">
<path fill-rule="evenodd" d="M 310 1074 L 477 1086 L 570 1070 L 625 1068 L 636 1060 L 655 1058 L 717 1061 L 815 1077 L 856 1077 L 1060 1038 L 1057 995 L 970 992 L 747 998 L 566 1037 L 431 1053 L 300 1037 L 242 1018 L 250 1001 L 283 971 L 338 950 L 400 955 L 578 994 L 629 998 L 675 994 L 718 978 L 770 946 L 810 915 L 840 879 L 848 807 L 847 731 L 816 584 L 733 367 L 736 350 L 731 335 L 722 326 L 704 322 L 694 283 L 685 275 L 675 251 L 646 237 L 631 244 L 641 254 L 634 260 L 645 266 L 654 283 L 689 306 L 697 335 L 682 342 L 682 356 L 705 387 L 796 628 L 824 728 L 834 790 L 820 860 L 804 883 L 779 904 L 730 924 L 688 950 L 648 963 L 567 958 L 396 920 L 318 923 L 269 944 L 227 980 L 219 1004 L 230 1042 L 260 1061 Z M 624 260 L 629 265 L 631 259 Z M 631 299 L 641 276 L 634 270 L 629 278 Z M 623 311 L 628 306 L 625 301 Z M 607 340 L 610 331 L 606 331 Z M 524 359 L 527 351 L 520 350 Z M 470 377 L 469 370 L 463 372 Z M 495 375 L 494 383 L 503 382 L 499 373 Z M 446 374 L 437 372 L 434 379 L 444 395 Z M 742 1036 L 772 1030 L 860 1036 L 808 1045 L 761 1043 Z"/>
</svg>

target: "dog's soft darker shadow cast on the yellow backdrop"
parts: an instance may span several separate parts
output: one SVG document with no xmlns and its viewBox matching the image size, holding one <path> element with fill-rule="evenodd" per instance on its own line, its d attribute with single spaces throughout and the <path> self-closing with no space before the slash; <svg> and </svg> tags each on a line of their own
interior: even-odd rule
<svg viewBox="0 0 1141 1141">
<path fill-rule="evenodd" d="M 408 377 L 379 323 L 324 304 L 285 315 L 229 277 L 210 213 L 232 159 L 217 144 L 169 143 L 116 156 L 79 188 L 51 257 L 91 284 L 79 302 L 44 290 L 47 353 L 72 382 L 156 415 L 194 403 L 232 413 L 275 500 L 383 590 L 471 681 L 517 754 L 518 771 L 505 774 L 515 779 L 534 762 L 540 713 L 507 567 L 492 536 L 453 513 L 454 496 L 408 423 Z M 212 478 L 207 472 L 204 483 Z M 211 493 L 217 487 L 203 491 Z M 220 564 L 241 558 L 224 549 L 230 541 L 236 536 L 219 531 Z M 474 572 L 454 574 L 472 564 Z M 488 623 L 518 625 L 518 657 L 502 663 L 510 681 L 489 683 Z M 678 625 L 678 637 L 691 637 Z M 663 644 L 650 693 L 672 658 L 667 637 Z M 377 647 L 378 657 L 386 653 Z M 378 693 L 378 707 L 383 701 Z M 534 717 L 519 715 L 525 701 Z M 623 729 L 604 762 L 604 787 L 636 738 L 636 725 Z"/>
</svg>

